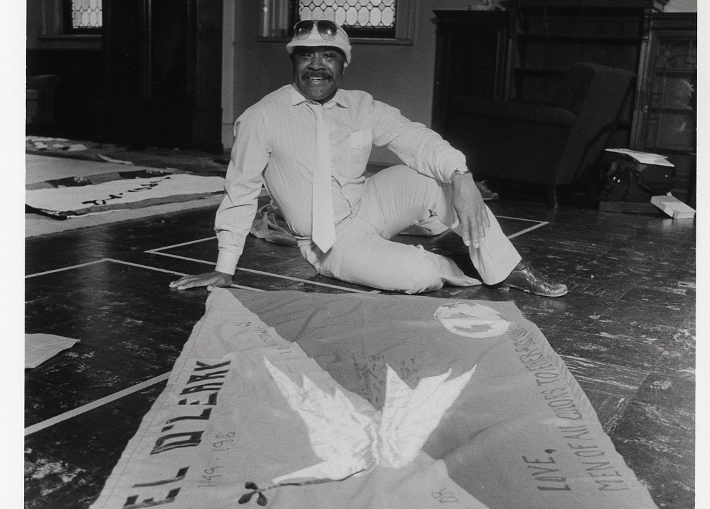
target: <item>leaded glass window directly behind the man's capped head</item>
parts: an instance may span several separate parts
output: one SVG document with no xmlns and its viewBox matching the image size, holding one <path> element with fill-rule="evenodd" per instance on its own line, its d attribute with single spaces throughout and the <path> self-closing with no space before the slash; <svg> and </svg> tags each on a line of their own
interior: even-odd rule
<svg viewBox="0 0 710 509">
<path fill-rule="evenodd" d="M 299 19 L 330 19 L 351 36 L 392 38 L 397 0 L 297 0 Z"/>
</svg>

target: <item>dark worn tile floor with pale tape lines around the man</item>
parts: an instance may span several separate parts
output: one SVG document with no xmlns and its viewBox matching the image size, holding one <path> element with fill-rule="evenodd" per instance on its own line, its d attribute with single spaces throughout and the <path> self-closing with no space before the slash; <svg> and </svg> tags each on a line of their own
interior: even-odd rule
<svg viewBox="0 0 710 509">
<path fill-rule="evenodd" d="M 567 282 L 569 294 L 444 287 L 431 295 L 515 301 L 657 505 L 694 507 L 694 221 L 530 200 L 490 205 L 524 257 Z M 202 316 L 207 292 L 168 282 L 210 269 L 213 218 L 207 208 L 28 240 L 26 331 L 81 341 L 26 370 L 26 508 L 87 508 L 97 497 Z M 466 269 L 454 237 L 399 240 Z M 240 265 L 236 282 L 257 289 L 363 289 L 318 276 L 295 248 L 251 237 Z"/>
</svg>

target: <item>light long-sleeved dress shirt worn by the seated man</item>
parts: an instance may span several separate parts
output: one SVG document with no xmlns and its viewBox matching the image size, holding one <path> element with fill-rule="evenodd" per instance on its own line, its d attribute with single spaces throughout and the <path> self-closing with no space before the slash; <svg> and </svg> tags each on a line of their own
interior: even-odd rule
<svg viewBox="0 0 710 509">
<path fill-rule="evenodd" d="M 262 183 L 294 234 L 310 237 L 316 151 L 315 114 L 307 102 L 293 85 L 285 85 L 236 120 L 226 195 L 214 222 L 219 272 L 234 274 Z M 324 119 L 331 142 L 336 223 L 358 211 L 373 144 L 388 146 L 407 166 L 443 182 L 450 182 L 454 169 L 466 165 L 464 155 L 439 134 L 366 92 L 338 90 L 324 104 Z"/>
</svg>

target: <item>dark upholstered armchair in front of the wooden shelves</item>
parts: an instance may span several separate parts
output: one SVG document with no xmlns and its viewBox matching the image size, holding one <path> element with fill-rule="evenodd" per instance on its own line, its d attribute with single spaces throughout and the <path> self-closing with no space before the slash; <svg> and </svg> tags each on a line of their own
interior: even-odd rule
<svg viewBox="0 0 710 509">
<path fill-rule="evenodd" d="M 599 177 L 602 151 L 634 77 L 579 63 L 542 103 L 455 96 L 445 134 L 476 178 L 542 184 L 557 207 L 557 186 Z"/>
</svg>

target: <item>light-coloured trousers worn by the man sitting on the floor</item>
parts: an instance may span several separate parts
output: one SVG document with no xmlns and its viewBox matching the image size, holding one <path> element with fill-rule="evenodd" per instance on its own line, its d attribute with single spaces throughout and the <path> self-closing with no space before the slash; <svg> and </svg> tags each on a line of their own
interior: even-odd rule
<svg viewBox="0 0 710 509">
<path fill-rule="evenodd" d="M 451 205 L 451 184 L 400 165 L 376 173 L 364 186 L 359 212 L 337 225 L 337 238 L 326 254 L 310 243 L 300 245 L 304 257 L 320 274 L 407 294 L 438 290 L 444 283 L 481 284 L 447 257 L 389 240 L 432 215 L 460 235 Z M 520 254 L 493 213 L 486 210 L 491 227 L 479 248 L 469 247 L 469 254 L 484 283 L 496 284 L 508 277 L 520 262 Z"/>
</svg>

